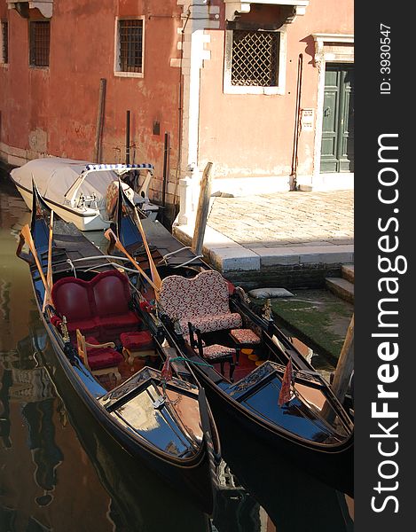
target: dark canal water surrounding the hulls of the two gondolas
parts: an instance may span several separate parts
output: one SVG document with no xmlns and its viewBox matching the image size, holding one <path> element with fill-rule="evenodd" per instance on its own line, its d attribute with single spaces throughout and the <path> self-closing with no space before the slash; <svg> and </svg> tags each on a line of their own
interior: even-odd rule
<svg viewBox="0 0 416 532">
<path fill-rule="evenodd" d="M 344 532 L 343 494 L 220 426 L 224 462 L 209 518 L 122 453 L 65 379 L 39 320 L 27 264 L 15 255 L 30 220 L 0 170 L 0 532 Z M 51 379 L 53 378 L 53 380 Z"/>
</svg>

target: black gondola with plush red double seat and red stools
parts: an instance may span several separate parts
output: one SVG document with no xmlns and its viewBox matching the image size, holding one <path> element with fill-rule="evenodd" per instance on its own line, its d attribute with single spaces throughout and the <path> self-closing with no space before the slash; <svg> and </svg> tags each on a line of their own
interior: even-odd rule
<svg viewBox="0 0 416 532">
<path fill-rule="evenodd" d="M 108 438 L 211 513 L 216 426 L 195 380 L 161 368 L 164 347 L 138 316 L 137 270 L 130 268 L 129 277 L 122 261 L 59 219 L 35 183 L 33 199 L 17 254 L 29 265 L 39 315 L 68 386 Z M 134 372 L 136 360 L 144 362 Z M 70 402 L 71 393 L 63 399 Z"/>
</svg>

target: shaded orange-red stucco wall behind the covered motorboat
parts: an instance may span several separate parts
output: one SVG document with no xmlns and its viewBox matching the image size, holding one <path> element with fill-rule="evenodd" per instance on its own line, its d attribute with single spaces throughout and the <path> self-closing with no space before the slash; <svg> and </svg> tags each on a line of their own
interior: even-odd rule
<svg viewBox="0 0 416 532">
<path fill-rule="evenodd" d="M 125 160 L 126 112 L 130 110 L 130 162 L 152 162 L 155 199 L 161 191 L 164 133 L 170 134 L 170 166 L 177 164 L 179 69 L 176 0 L 71 0 L 55 2 L 49 68 L 28 66 L 27 20 L 9 20 L 9 65 L 0 68 L 0 142 L 12 148 L 73 159 L 92 158 L 100 79 L 106 79 L 102 160 Z M 30 10 L 31 16 L 39 15 Z M 145 77 L 114 75 L 116 16 L 145 19 Z M 153 135 L 153 121 L 160 135 Z M 134 160 L 133 160 L 134 159 Z M 157 182 L 159 181 L 159 183 Z"/>
</svg>

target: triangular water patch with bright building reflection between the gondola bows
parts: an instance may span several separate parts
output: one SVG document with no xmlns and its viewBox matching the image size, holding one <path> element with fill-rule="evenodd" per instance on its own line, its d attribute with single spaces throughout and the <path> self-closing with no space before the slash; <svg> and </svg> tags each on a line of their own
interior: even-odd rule
<svg viewBox="0 0 416 532">
<path fill-rule="evenodd" d="M 263 507 L 240 485 L 224 460 L 218 468 L 218 483 L 213 532 L 276 532 Z"/>
</svg>

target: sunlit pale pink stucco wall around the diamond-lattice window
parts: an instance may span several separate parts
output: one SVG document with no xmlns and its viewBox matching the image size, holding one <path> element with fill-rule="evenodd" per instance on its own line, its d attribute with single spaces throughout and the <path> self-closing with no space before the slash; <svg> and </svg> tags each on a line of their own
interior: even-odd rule
<svg viewBox="0 0 416 532">
<path fill-rule="evenodd" d="M 263 6 L 263 15 L 272 16 L 272 9 L 279 8 Z M 252 5 L 250 16 L 254 11 Z M 200 72 L 200 165 L 215 160 L 217 176 L 290 174 L 299 54 L 303 56 L 301 107 L 316 109 L 318 68 L 313 64 L 312 34 L 353 34 L 352 1 L 310 0 L 306 14 L 287 25 L 285 94 L 224 94 L 224 27 L 207 33 L 211 59 Z M 299 138 L 299 173 L 313 170 L 314 135 L 305 131 Z"/>
</svg>

